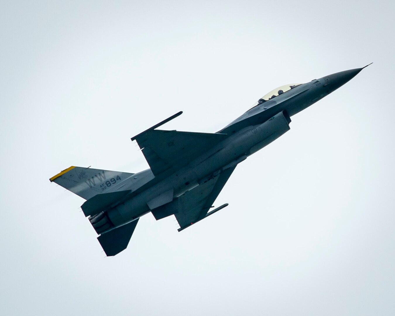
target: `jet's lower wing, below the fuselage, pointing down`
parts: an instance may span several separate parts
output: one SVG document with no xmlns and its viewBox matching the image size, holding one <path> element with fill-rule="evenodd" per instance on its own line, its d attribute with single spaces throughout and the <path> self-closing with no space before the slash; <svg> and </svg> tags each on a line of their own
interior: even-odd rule
<svg viewBox="0 0 395 316">
<path fill-rule="evenodd" d="M 179 231 L 198 222 L 207 215 L 234 169 L 235 167 L 226 169 L 214 179 L 197 186 L 177 199 L 178 213 L 174 215 L 180 225 Z"/>
</svg>

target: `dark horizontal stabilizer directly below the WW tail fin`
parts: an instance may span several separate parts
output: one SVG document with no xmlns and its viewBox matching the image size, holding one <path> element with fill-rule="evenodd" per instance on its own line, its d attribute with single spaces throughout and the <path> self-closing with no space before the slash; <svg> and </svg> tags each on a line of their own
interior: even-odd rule
<svg viewBox="0 0 395 316">
<path fill-rule="evenodd" d="M 98 214 L 108 209 L 111 204 L 114 204 L 124 198 L 130 192 L 132 191 L 125 190 L 95 195 L 93 198 L 85 201 L 85 203 L 81 205 L 81 209 L 85 216 Z"/>
</svg>

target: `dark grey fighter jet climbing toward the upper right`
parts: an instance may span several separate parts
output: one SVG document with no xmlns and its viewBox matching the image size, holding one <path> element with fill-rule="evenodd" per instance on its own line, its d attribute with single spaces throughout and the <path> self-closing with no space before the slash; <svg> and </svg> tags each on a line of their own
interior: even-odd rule
<svg viewBox="0 0 395 316">
<path fill-rule="evenodd" d="M 216 133 L 156 129 L 182 114 L 176 113 L 131 138 L 150 169 L 126 173 L 71 166 L 49 180 L 86 199 L 83 213 L 105 254 L 115 256 L 147 213 L 156 220 L 174 215 L 182 231 L 228 206 L 213 203 L 237 164 L 288 132 L 293 115 L 363 68 L 278 87 Z"/>
</svg>

